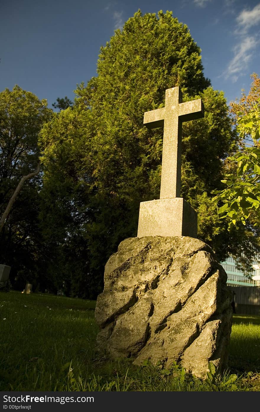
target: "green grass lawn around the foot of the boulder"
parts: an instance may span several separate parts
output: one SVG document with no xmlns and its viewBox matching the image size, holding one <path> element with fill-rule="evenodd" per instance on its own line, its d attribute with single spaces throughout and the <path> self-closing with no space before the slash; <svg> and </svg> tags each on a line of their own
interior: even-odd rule
<svg viewBox="0 0 260 412">
<path fill-rule="evenodd" d="M 100 358 L 95 301 L 0 293 L 0 391 L 259 391 L 260 316 L 234 315 L 229 370 L 207 380 Z"/>
</svg>

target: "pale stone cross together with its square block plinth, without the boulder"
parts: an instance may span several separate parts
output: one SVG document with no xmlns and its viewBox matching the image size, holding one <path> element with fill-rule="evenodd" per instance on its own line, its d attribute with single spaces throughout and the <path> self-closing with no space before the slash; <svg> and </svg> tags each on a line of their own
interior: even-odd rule
<svg viewBox="0 0 260 412">
<path fill-rule="evenodd" d="M 144 113 L 148 129 L 164 127 L 160 199 L 140 203 L 137 237 L 197 237 L 197 213 L 180 197 L 182 122 L 204 117 L 201 99 L 182 103 L 179 87 L 165 91 L 165 107 Z"/>
</svg>

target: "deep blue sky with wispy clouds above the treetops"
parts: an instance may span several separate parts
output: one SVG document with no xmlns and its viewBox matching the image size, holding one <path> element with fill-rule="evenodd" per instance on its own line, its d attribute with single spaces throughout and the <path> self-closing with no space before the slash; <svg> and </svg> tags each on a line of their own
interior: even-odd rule
<svg viewBox="0 0 260 412">
<path fill-rule="evenodd" d="M 18 84 L 49 107 L 73 100 L 77 83 L 96 75 L 100 46 L 138 9 L 171 10 L 187 24 L 228 104 L 260 75 L 260 0 L 0 0 L 0 91 Z"/>
</svg>

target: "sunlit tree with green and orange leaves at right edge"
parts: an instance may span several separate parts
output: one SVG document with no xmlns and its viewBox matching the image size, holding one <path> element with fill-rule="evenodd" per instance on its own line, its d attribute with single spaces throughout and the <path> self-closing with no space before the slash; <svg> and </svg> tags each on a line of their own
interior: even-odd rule
<svg viewBox="0 0 260 412">
<path fill-rule="evenodd" d="M 242 232 L 237 250 L 231 250 L 230 254 L 246 274 L 251 274 L 252 259 L 260 253 L 260 79 L 256 73 L 251 78 L 253 82 L 248 95 L 243 91 L 239 101 L 230 103 L 239 146 L 233 156 L 225 159 L 223 187 L 214 191 L 213 199 L 219 206 L 219 217 L 228 224 L 230 236 L 232 232 Z"/>
</svg>

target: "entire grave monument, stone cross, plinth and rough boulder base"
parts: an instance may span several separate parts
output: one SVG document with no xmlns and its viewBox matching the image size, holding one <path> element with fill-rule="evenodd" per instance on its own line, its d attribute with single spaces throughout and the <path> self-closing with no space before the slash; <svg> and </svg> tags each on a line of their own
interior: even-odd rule
<svg viewBox="0 0 260 412">
<path fill-rule="evenodd" d="M 144 114 L 148 128 L 164 126 L 160 199 L 140 204 L 137 237 L 107 261 L 95 308 L 101 352 L 137 365 L 175 361 L 197 377 L 210 361 L 226 368 L 232 325 L 227 275 L 180 197 L 181 125 L 203 116 L 202 101 L 182 103 L 179 87 L 166 90 L 164 108 Z"/>
</svg>

